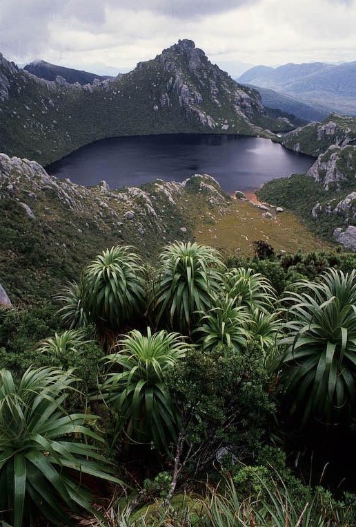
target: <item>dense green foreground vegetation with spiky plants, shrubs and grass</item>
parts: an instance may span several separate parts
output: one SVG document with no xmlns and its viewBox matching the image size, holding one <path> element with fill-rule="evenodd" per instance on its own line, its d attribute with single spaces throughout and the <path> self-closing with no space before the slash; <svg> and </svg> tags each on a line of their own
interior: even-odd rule
<svg viewBox="0 0 356 527">
<path fill-rule="evenodd" d="M 140 275 L 137 267 L 134 290 L 148 291 L 137 296 L 133 273 L 121 272 L 141 259 L 118 246 L 83 268 L 80 295 L 72 287 L 73 295 L 57 295 L 60 304 L 69 297 L 57 315 L 50 304 L 1 311 L 1 520 L 355 524 L 356 257 L 255 248 L 263 259 L 237 253 L 223 261 L 197 243 L 166 246 L 156 268 Z M 102 279 L 103 297 L 118 302 L 97 318 L 84 308 Z M 157 333 L 144 331 L 166 281 L 158 298 L 170 299 L 172 316 L 159 317 Z M 126 302 L 139 318 L 122 322 L 118 304 Z M 82 308 L 86 324 L 63 329 Z M 129 324 L 137 326 L 119 334 Z M 106 331 L 109 355 L 108 341 L 98 340 Z M 110 486 L 99 491 L 98 478 Z"/>
</svg>

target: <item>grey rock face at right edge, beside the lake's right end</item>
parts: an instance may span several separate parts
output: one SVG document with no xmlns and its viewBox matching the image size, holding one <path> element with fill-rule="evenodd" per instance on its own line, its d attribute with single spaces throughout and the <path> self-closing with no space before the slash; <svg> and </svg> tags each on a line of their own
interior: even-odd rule
<svg viewBox="0 0 356 527">
<path fill-rule="evenodd" d="M 324 154 L 320 154 L 307 175 L 315 178 L 326 190 L 331 185 L 339 188 L 342 181 L 355 179 L 356 147 L 331 145 Z"/>
</svg>

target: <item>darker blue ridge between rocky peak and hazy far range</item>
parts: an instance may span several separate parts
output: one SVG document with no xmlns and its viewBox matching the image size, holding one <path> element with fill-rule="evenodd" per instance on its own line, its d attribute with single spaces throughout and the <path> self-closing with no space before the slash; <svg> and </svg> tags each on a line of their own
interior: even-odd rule
<svg viewBox="0 0 356 527">
<path fill-rule="evenodd" d="M 330 114 L 330 109 L 322 107 L 321 104 L 308 104 L 291 95 L 277 93 L 277 91 L 253 84 L 248 84 L 248 86 L 259 91 L 264 107 L 279 109 L 304 121 L 322 121 Z"/>
</svg>

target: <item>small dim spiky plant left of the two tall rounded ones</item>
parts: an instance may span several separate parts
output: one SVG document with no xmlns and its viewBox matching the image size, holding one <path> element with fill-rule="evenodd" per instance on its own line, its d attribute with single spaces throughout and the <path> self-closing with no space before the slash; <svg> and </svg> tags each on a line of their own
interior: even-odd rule
<svg viewBox="0 0 356 527">
<path fill-rule="evenodd" d="M 83 328 L 90 324 L 90 313 L 86 304 L 86 284 L 83 280 L 72 281 L 62 286 L 55 299 L 63 304 L 57 313 L 68 329 Z"/>
</svg>

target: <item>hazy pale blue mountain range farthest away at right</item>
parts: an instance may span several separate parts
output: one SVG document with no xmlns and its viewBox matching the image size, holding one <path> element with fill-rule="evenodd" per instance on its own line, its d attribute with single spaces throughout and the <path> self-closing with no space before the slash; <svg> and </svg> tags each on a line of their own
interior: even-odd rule
<svg viewBox="0 0 356 527">
<path fill-rule="evenodd" d="M 237 81 L 322 104 L 338 113 L 356 115 L 356 62 L 255 66 Z"/>
</svg>

